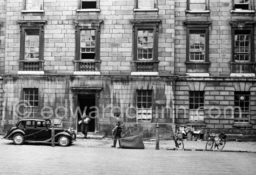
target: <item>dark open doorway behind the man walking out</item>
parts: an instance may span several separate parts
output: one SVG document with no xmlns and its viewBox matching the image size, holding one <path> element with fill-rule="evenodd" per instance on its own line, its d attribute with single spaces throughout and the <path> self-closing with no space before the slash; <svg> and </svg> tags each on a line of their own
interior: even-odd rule
<svg viewBox="0 0 256 175">
<path fill-rule="evenodd" d="M 95 131 L 95 113 L 93 111 L 95 111 L 95 108 L 91 108 L 91 107 L 95 107 L 95 94 L 78 94 L 78 106 L 81 109 L 81 112 L 83 113 L 83 111 L 86 111 L 86 114 L 91 117 L 91 121 L 89 122 L 89 130 L 88 132 L 94 132 Z M 91 108 L 91 109 L 90 109 Z M 91 113 L 92 112 L 92 113 Z M 78 121 L 80 121 L 81 115 L 78 114 Z M 81 131 L 81 125 L 79 125 L 77 123 L 77 130 Z"/>
</svg>

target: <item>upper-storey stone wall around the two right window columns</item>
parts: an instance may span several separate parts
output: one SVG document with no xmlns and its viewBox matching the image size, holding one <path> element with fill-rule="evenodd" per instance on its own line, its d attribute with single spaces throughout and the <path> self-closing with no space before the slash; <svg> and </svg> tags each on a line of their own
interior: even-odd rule
<svg viewBox="0 0 256 175">
<path fill-rule="evenodd" d="M 256 3 L 254 5 L 256 6 Z M 255 13 L 230 13 L 232 0 L 209 0 L 210 13 L 186 13 L 186 9 L 187 0 L 175 1 L 175 74 L 184 76 L 186 73 L 187 27 L 184 21 L 211 21 L 209 26 L 209 74 L 210 76 L 230 76 L 232 35 L 229 22 L 233 20 L 255 21 Z M 254 27 L 254 33 L 256 33 L 256 27 Z M 256 47 L 254 53 L 256 55 Z"/>
</svg>

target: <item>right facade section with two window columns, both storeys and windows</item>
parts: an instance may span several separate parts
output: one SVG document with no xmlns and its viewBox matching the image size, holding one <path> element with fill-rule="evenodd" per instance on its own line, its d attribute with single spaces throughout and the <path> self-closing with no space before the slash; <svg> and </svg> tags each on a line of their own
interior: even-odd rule
<svg viewBox="0 0 256 175">
<path fill-rule="evenodd" d="M 175 1 L 176 124 L 256 132 L 255 30 L 254 0 Z"/>
</svg>

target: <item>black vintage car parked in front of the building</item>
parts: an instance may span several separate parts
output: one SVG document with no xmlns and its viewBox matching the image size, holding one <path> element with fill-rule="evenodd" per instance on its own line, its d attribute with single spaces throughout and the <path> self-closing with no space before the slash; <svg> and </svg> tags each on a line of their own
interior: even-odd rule
<svg viewBox="0 0 256 175">
<path fill-rule="evenodd" d="M 9 129 L 4 136 L 7 140 L 13 140 L 16 145 L 25 142 L 51 142 L 52 125 L 49 119 L 24 118 L 20 119 L 16 125 Z M 72 128 L 54 127 L 55 142 L 65 147 L 76 141 L 76 133 Z"/>
</svg>

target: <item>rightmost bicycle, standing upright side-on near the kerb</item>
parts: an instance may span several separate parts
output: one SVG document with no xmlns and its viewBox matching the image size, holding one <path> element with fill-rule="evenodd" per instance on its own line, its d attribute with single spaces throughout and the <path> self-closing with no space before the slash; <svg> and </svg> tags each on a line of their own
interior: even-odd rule
<svg viewBox="0 0 256 175">
<path fill-rule="evenodd" d="M 223 132 L 220 135 L 217 135 L 214 133 L 210 134 L 210 139 L 209 139 L 209 141 L 207 141 L 205 149 L 211 150 L 214 145 L 214 148 L 217 147 L 219 150 L 222 150 L 226 144 L 226 137 L 227 137 L 227 135 L 225 135 Z M 218 139 L 216 139 L 216 138 L 218 138 Z M 218 141 L 218 142 L 216 143 L 216 141 Z"/>
</svg>

